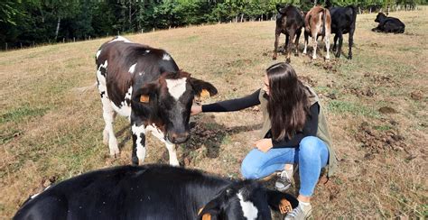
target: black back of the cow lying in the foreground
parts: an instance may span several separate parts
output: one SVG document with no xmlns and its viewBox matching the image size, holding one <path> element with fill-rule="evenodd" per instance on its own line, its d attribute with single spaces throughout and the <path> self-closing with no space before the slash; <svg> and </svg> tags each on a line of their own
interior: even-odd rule
<svg viewBox="0 0 428 220">
<path fill-rule="evenodd" d="M 195 170 L 149 165 L 88 172 L 48 188 L 14 219 L 193 219 L 228 181 Z M 213 187 L 215 186 L 215 187 Z M 206 188 L 204 190 L 203 188 Z M 218 189 L 215 189 L 218 188 Z M 31 219 L 31 218 L 30 218 Z"/>
</svg>

